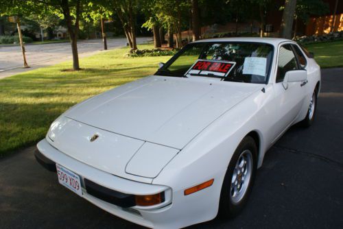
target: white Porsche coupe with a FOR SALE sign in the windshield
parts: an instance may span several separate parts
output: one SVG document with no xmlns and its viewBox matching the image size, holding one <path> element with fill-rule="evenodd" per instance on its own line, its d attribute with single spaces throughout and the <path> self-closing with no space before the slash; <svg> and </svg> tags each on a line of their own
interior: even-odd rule
<svg viewBox="0 0 343 229">
<path fill-rule="evenodd" d="M 268 148 L 314 121 L 319 91 L 320 67 L 292 40 L 200 40 L 64 112 L 35 156 L 67 189 L 136 224 L 233 217 Z"/>
</svg>

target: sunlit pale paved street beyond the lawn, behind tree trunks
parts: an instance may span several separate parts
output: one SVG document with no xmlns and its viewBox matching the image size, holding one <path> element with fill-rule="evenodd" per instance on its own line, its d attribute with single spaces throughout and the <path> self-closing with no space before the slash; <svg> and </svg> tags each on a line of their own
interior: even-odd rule
<svg viewBox="0 0 343 229">
<path fill-rule="evenodd" d="M 151 38 L 137 38 L 137 43 L 145 43 Z M 126 38 L 107 40 L 108 49 L 126 46 Z M 104 48 L 102 39 L 78 41 L 79 57 L 91 56 Z M 65 60 L 71 60 L 70 43 L 52 43 L 43 45 L 26 45 L 26 60 L 29 69 L 23 69 L 23 54 L 20 46 L 0 47 L 0 79 L 23 71 L 37 69 Z"/>
</svg>

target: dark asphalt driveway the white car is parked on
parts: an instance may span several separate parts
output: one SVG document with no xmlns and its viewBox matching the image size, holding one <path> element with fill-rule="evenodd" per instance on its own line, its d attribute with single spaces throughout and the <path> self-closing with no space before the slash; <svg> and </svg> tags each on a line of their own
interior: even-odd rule
<svg viewBox="0 0 343 229">
<path fill-rule="evenodd" d="M 322 71 L 317 111 L 269 150 L 241 215 L 190 228 L 343 228 L 343 69 Z M 0 228 L 139 228 L 67 191 L 33 151 L 0 160 Z"/>
</svg>

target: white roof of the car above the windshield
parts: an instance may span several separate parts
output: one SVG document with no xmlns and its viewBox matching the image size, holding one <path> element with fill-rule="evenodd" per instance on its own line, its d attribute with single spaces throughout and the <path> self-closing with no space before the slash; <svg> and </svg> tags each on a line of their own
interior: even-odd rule
<svg viewBox="0 0 343 229">
<path fill-rule="evenodd" d="M 194 43 L 202 42 L 256 42 L 256 43 L 268 43 L 274 46 L 279 45 L 283 42 L 293 42 L 293 40 L 288 40 L 284 38 L 260 38 L 260 37 L 232 37 L 232 38 L 211 38 L 204 40 L 196 40 Z"/>
</svg>

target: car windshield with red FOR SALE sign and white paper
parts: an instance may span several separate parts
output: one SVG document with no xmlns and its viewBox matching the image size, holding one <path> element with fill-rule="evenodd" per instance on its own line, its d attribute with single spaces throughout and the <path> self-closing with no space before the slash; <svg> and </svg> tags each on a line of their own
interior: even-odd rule
<svg viewBox="0 0 343 229">
<path fill-rule="evenodd" d="M 273 47 L 265 43 L 191 43 L 155 75 L 219 77 L 224 81 L 265 84 Z"/>
</svg>

